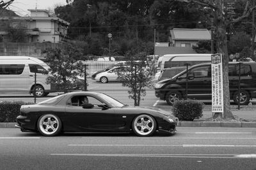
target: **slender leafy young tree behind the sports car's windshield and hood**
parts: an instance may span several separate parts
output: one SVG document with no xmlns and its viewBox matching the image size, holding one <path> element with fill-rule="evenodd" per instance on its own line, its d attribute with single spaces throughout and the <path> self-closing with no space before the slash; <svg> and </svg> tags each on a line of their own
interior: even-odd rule
<svg viewBox="0 0 256 170">
<path fill-rule="evenodd" d="M 145 63 L 147 52 L 132 50 L 127 52 L 127 66 L 117 71 L 118 79 L 123 86 L 129 87 L 129 98 L 134 100 L 134 106 L 140 106 L 140 101 L 146 96 L 145 87 L 151 87 L 151 77 L 156 73 L 154 62 Z"/>
</svg>

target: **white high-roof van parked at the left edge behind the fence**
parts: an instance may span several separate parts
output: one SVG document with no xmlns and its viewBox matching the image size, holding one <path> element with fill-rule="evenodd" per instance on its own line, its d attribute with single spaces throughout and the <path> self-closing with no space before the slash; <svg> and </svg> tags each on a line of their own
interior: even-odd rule
<svg viewBox="0 0 256 170">
<path fill-rule="evenodd" d="M 54 92 L 46 83 L 50 67 L 40 59 L 26 56 L 0 56 L 0 92 L 22 92 L 42 97 Z M 36 72 L 36 85 L 35 85 Z M 34 92 L 35 88 L 35 92 Z"/>
</svg>

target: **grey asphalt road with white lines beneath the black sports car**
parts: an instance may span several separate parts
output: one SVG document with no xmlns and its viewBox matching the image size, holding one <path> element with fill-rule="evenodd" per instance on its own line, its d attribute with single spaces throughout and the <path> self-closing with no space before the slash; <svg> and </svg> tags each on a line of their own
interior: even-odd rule
<svg viewBox="0 0 256 170">
<path fill-rule="evenodd" d="M 0 169 L 255 169 L 255 128 L 179 127 L 177 134 L 62 134 L 1 129 Z"/>
</svg>

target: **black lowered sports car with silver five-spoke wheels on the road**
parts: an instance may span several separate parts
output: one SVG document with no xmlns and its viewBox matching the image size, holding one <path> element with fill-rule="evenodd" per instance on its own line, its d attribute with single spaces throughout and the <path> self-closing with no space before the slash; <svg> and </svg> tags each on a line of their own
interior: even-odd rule
<svg viewBox="0 0 256 170">
<path fill-rule="evenodd" d="M 70 92 L 38 104 L 23 105 L 16 127 L 44 136 L 60 132 L 176 132 L 178 119 L 159 108 L 128 106 L 99 92 Z"/>
</svg>

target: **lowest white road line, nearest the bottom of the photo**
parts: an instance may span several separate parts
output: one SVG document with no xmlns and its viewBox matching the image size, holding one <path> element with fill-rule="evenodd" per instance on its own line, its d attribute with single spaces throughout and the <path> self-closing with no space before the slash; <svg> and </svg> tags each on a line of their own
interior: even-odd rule
<svg viewBox="0 0 256 170">
<path fill-rule="evenodd" d="M 239 154 L 86 154 L 86 153 L 51 153 L 58 156 L 87 156 L 87 157 L 178 157 L 178 158 L 201 158 L 201 159 L 246 159 L 256 157 L 237 157 Z"/>
</svg>

